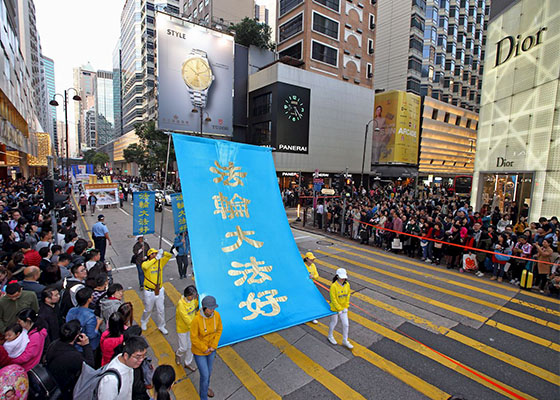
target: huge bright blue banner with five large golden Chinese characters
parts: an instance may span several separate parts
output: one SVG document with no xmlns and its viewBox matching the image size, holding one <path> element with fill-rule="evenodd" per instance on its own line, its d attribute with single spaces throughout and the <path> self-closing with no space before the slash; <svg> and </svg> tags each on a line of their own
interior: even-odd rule
<svg viewBox="0 0 560 400">
<path fill-rule="evenodd" d="M 196 285 L 220 346 L 332 314 L 290 230 L 271 149 L 173 134 Z"/>
</svg>

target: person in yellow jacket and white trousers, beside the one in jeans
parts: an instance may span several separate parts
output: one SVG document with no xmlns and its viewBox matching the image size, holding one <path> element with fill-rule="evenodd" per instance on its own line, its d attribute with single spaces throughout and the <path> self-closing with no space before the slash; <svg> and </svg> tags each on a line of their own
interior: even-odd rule
<svg viewBox="0 0 560 400">
<path fill-rule="evenodd" d="M 184 365 L 191 371 L 196 369 L 191 366 L 193 354 L 191 351 L 191 322 L 198 310 L 198 293 L 193 285 L 187 286 L 183 296 L 177 303 L 175 323 L 177 325 L 177 338 L 179 348 L 175 352 L 175 362 Z"/>
</svg>

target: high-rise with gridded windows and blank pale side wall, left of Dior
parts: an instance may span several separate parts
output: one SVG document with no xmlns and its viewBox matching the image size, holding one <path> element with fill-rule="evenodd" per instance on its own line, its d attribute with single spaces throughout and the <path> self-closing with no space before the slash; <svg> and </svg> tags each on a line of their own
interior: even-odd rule
<svg viewBox="0 0 560 400">
<path fill-rule="evenodd" d="M 478 112 L 491 0 L 379 0 L 375 88 Z"/>
</svg>

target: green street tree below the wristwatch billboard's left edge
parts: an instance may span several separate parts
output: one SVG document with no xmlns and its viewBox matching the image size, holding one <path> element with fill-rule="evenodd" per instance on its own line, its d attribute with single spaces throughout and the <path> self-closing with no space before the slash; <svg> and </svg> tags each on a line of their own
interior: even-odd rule
<svg viewBox="0 0 560 400">
<path fill-rule="evenodd" d="M 156 130 L 153 121 L 138 124 L 136 135 L 140 141 L 124 149 L 124 159 L 138 164 L 140 175 L 143 177 L 150 177 L 158 171 L 163 174 L 167 157 L 167 135 L 163 131 Z M 173 161 L 175 161 L 175 151 L 171 144 L 169 163 Z"/>
</svg>

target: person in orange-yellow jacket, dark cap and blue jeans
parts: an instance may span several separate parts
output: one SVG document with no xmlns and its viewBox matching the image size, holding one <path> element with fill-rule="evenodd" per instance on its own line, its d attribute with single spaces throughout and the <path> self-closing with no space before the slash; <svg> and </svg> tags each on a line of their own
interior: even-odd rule
<svg viewBox="0 0 560 400">
<path fill-rule="evenodd" d="M 218 304 L 213 296 L 204 297 L 202 310 L 196 313 L 191 323 L 192 352 L 200 374 L 200 400 L 214 397 L 214 392 L 210 389 L 210 375 L 222 336 L 222 319 L 216 308 Z"/>
</svg>

